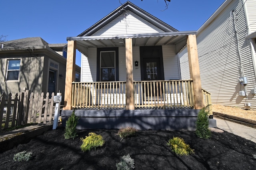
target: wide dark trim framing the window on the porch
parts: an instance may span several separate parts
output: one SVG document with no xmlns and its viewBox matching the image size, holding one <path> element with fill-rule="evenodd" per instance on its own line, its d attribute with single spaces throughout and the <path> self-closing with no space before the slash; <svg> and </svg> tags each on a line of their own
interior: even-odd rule
<svg viewBox="0 0 256 170">
<path fill-rule="evenodd" d="M 101 52 L 105 51 L 105 52 L 111 52 L 114 51 L 115 52 L 115 80 L 114 81 L 119 81 L 119 68 L 118 68 L 118 47 L 113 47 L 113 48 L 97 48 L 97 77 L 96 77 L 96 81 L 100 82 L 101 78 L 100 78 L 100 68 L 101 68 Z"/>
</svg>

